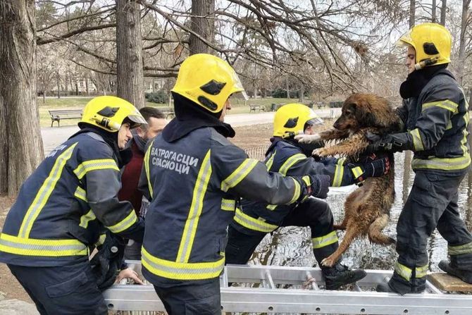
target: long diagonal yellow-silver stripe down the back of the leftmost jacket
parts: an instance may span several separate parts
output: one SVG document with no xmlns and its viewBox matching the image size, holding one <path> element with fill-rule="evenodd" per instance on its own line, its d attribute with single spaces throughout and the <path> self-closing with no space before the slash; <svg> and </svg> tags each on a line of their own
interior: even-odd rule
<svg viewBox="0 0 472 315">
<path fill-rule="evenodd" d="M 35 199 L 26 211 L 23 222 L 21 223 L 20 231 L 18 232 L 19 237 L 27 238 L 30 236 L 33 223 L 35 223 L 37 216 L 39 216 L 39 212 L 42 211 L 44 205 L 51 196 L 51 193 L 54 191 L 59 178 L 61 178 L 64 166 L 66 166 L 67 161 L 70 159 L 70 156 L 72 156 L 76 145 L 77 143 L 71 145 L 68 147 L 68 149 L 66 149 L 66 151 L 62 152 L 57 157 L 56 161 L 54 162 L 54 166 L 51 168 L 51 172 L 49 172 L 48 177 L 42 183 L 35 196 Z"/>
</svg>

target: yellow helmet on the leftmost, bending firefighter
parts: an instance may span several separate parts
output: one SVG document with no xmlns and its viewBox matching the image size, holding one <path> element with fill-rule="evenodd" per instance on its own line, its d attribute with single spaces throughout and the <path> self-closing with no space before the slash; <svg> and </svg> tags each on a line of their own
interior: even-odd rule
<svg viewBox="0 0 472 315">
<path fill-rule="evenodd" d="M 85 105 L 79 126 L 88 123 L 109 132 L 117 132 L 125 118 L 136 124 L 147 124 L 141 113 L 129 101 L 119 97 L 95 97 Z"/>
</svg>

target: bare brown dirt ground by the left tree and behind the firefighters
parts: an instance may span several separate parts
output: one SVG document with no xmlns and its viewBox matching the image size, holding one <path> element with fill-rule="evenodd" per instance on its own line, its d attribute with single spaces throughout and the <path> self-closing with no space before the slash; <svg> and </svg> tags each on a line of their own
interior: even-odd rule
<svg viewBox="0 0 472 315">
<path fill-rule="evenodd" d="M 230 139 L 230 141 L 238 147 L 242 147 L 242 149 L 251 149 L 269 143 L 272 135 L 272 124 L 236 127 L 235 131 L 236 136 Z M 6 214 L 13 202 L 14 198 L 0 196 L 0 228 L 4 226 Z M 4 295 L 6 299 L 20 299 L 25 302 L 32 302 L 5 264 L 0 264 L 0 295 Z"/>
</svg>

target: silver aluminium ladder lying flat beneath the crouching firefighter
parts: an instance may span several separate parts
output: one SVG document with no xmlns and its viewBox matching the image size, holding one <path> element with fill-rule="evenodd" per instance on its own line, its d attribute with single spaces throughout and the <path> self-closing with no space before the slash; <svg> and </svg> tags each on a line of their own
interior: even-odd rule
<svg viewBox="0 0 472 315">
<path fill-rule="evenodd" d="M 140 261 L 128 261 L 128 266 L 141 275 Z M 375 292 L 392 271 L 366 272 L 364 279 L 351 285 L 352 291 L 330 291 L 320 288 L 324 283 L 319 268 L 228 265 L 220 277 L 222 314 L 472 314 L 472 295 L 445 294 L 429 281 L 423 294 Z M 113 285 L 104 297 L 112 311 L 165 310 L 152 285 Z"/>
</svg>

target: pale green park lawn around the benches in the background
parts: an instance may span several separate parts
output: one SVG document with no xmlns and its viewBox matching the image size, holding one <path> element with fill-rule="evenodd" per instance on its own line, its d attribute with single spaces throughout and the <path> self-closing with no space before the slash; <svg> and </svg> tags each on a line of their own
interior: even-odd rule
<svg viewBox="0 0 472 315">
<path fill-rule="evenodd" d="M 42 97 L 37 98 L 37 104 L 39 106 L 39 123 L 41 127 L 51 126 L 51 115 L 49 115 L 49 109 L 83 109 L 85 104 L 92 99 L 92 97 L 61 97 L 57 98 L 46 98 L 43 103 Z M 266 99 L 249 99 L 244 102 L 242 99 L 235 99 L 232 101 L 232 109 L 228 112 L 228 115 L 236 113 L 249 113 L 249 104 L 251 105 L 263 105 L 266 109 L 271 109 L 271 104 L 287 104 L 295 103 L 298 99 L 273 99 L 268 97 Z M 146 106 L 155 107 L 167 107 L 168 104 L 156 104 L 146 102 Z M 76 125 L 78 119 L 66 119 L 61 121 L 61 125 Z M 54 123 L 57 125 L 57 122 Z"/>
</svg>

